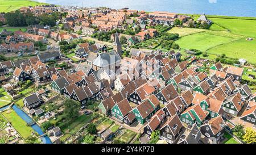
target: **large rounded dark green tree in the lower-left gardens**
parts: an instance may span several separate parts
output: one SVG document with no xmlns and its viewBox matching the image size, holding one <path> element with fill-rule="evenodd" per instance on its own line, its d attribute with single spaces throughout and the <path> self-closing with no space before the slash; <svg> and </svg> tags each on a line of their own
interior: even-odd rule
<svg viewBox="0 0 256 155">
<path fill-rule="evenodd" d="M 73 99 L 66 99 L 64 101 L 64 114 L 67 118 L 76 118 L 79 115 L 80 103 Z"/>
</svg>

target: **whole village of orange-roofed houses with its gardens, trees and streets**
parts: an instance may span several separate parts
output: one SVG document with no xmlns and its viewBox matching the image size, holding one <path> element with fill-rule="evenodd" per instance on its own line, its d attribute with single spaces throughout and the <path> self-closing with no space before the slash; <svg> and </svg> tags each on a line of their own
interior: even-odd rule
<svg viewBox="0 0 256 155">
<path fill-rule="evenodd" d="M 63 14 L 56 26 L 0 32 L 7 58 L 0 62 L 1 143 L 245 143 L 239 129 L 256 130 L 256 94 L 242 81 L 245 62 L 183 55 L 172 43 L 179 36 L 165 33 L 177 22 L 208 27 L 204 14 L 195 21 L 129 9 L 19 11 Z"/>
</svg>

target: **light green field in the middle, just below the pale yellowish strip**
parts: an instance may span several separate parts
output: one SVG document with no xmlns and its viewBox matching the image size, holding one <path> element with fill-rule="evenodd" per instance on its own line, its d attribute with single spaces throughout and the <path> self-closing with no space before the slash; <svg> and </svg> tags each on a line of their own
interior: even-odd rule
<svg viewBox="0 0 256 155">
<path fill-rule="evenodd" d="M 217 36 L 209 33 L 195 33 L 181 37 L 176 43 L 183 49 L 198 49 L 200 51 L 207 51 L 218 45 L 230 43 L 235 39 L 225 36 Z"/>
</svg>

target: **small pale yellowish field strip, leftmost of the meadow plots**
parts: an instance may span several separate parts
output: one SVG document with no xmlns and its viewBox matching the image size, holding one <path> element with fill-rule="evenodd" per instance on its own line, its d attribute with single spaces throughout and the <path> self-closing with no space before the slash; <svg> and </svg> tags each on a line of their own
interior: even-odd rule
<svg viewBox="0 0 256 155">
<path fill-rule="evenodd" d="M 198 32 L 202 32 L 202 31 L 208 31 L 205 29 L 201 29 L 201 28 L 179 28 L 179 27 L 174 27 L 171 30 L 168 31 L 168 33 L 178 33 L 179 36 L 187 36 L 187 35 L 191 35 L 193 33 L 198 33 Z"/>
</svg>

